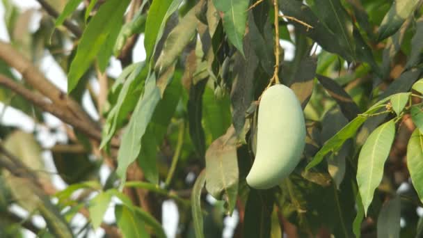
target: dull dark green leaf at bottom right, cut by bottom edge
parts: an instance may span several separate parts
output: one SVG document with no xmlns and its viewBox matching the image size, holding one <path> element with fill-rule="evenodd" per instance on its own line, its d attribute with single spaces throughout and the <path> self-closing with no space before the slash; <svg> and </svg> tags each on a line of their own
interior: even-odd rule
<svg viewBox="0 0 423 238">
<path fill-rule="evenodd" d="M 401 200 L 395 196 L 383 205 L 378 216 L 378 237 L 399 238 L 399 220 L 401 219 Z"/>
</svg>

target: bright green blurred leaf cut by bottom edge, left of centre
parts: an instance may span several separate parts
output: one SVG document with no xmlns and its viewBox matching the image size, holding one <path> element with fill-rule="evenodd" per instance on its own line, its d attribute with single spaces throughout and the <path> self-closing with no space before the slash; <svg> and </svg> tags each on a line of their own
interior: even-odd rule
<svg viewBox="0 0 423 238">
<path fill-rule="evenodd" d="M 150 237 L 143 221 L 127 206 L 116 205 L 115 217 L 124 237 Z"/>
</svg>

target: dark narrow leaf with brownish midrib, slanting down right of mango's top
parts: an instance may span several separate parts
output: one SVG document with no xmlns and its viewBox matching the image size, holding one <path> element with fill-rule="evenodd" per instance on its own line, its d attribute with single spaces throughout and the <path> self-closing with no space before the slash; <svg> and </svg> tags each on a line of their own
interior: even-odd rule
<svg viewBox="0 0 423 238">
<path fill-rule="evenodd" d="M 357 104 L 351 96 L 345 92 L 344 88 L 339 86 L 333 79 L 324 77 L 323 75 L 317 75 L 317 79 L 319 79 L 319 82 L 324 86 L 329 95 L 340 105 L 344 116 L 350 121 L 356 118 L 358 113 L 360 113 L 360 109 L 358 109 Z"/>
</svg>

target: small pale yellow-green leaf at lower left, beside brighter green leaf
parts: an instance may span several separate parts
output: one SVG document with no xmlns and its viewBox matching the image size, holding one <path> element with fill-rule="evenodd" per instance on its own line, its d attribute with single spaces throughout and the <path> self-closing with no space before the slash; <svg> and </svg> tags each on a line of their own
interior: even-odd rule
<svg viewBox="0 0 423 238">
<path fill-rule="evenodd" d="M 95 198 L 90 200 L 88 211 L 90 212 L 90 219 L 94 230 L 102 223 L 104 213 L 106 213 L 107 208 L 109 208 L 110 200 L 111 194 L 107 192 L 98 193 Z"/>
</svg>

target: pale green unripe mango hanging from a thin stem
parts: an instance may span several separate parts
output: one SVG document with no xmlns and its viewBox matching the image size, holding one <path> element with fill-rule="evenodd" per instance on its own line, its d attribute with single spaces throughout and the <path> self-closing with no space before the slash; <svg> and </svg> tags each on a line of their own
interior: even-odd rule
<svg viewBox="0 0 423 238">
<path fill-rule="evenodd" d="M 295 93 L 282 84 L 262 94 L 257 119 L 257 152 L 247 175 L 254 189 L 282 182 L 301 159 L 305 146 L 303 109 Z"/>
</svg>

